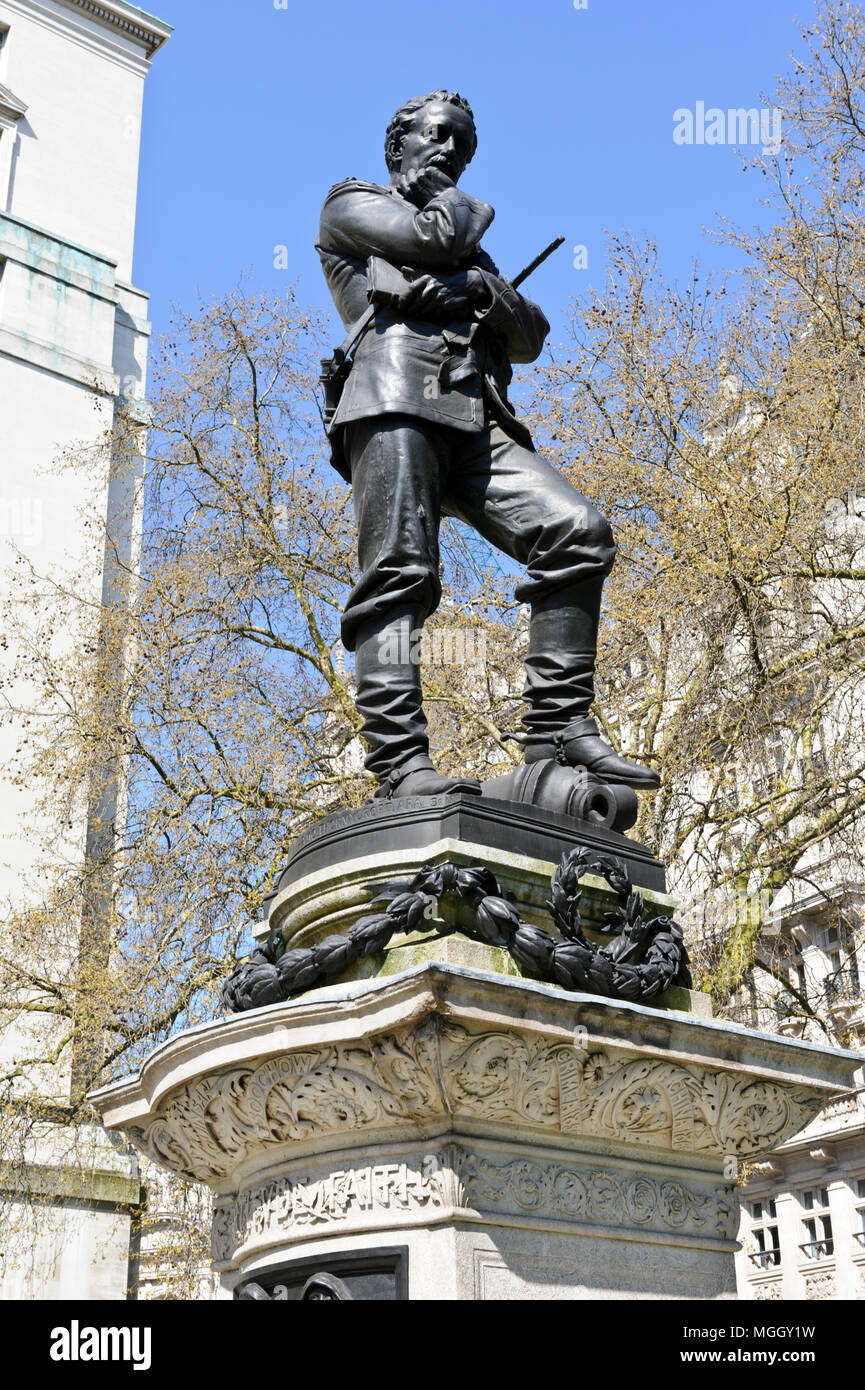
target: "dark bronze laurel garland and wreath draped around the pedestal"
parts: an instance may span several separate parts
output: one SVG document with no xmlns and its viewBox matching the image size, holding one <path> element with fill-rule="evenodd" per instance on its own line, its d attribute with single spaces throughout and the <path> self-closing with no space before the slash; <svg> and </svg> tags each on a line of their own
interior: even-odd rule
<svg viewBox="0 0 865 1390">
<path fill-rule="evenodd" d="M 580 880 L 599 874 L 619 897 L 601 930 L 612 940 L 594 945 L 583 933 Z M 343 937 L 325 937 L 314 947 L 285 951 L 280 930 L 249 960 L 238 965 L 223 987 L 223 1001 L 239 1013 L 280 1004 L 342 974 L 355 960 L 384 951 L 398 931 L 421 926 L 432 903 L 458 892 L 474 908 L 476 930 L 466 935 L 505 947 L 530 974 L 612 999 L 652 999 L 673 984 L 690 987 L 688 954 L 681 927 L 672 917 L 644 919 L 644 902 L 631 890 L 623 865 L 591 849 L 572 849 L 552 876 L 547 903 L 560 938 L 523 922 L 488 869 L 444 863 L 421 869 L 410 881 L 373 884 L 375 899 L 389 899 L 384 912 L 362 917 Z M 441 935 L 453 927 L 431 923 Z"/>
</svg>

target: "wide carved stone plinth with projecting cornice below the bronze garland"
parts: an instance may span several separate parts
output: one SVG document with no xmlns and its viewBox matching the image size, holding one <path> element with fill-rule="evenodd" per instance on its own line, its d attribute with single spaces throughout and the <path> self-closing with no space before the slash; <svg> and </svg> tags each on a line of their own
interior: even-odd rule
<svg viewBox="0 0 865 1390">
<path fill-rule="evenodd" d="M 855 1054 L 424 963 L 192 1029 L 92 1099 L 216 1195 L 227 1297 L 734 1297 L 730 1159 Z"/>
</svg>

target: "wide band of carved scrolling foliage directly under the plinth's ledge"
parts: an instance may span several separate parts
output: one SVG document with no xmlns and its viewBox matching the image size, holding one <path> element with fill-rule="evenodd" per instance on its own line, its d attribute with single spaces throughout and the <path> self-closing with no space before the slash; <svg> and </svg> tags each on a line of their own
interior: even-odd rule
<svg viewBox="0 0 865 1390">
<path fill-rule="evenodd" d="M 807 1087 L 510 1029 L 471 1033 L 432 1013 L 401 1031 L 192 1081 L 129 1136 L 165 1168 L 209 1180 L 280 1144 L 442 1115 L 662 1150 L 766 1152 L 819 1105 Z"/>
</svg>

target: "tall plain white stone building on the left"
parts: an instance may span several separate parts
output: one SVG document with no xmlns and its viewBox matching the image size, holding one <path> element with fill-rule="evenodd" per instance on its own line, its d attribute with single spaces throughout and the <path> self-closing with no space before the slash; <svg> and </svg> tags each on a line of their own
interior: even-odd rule
<svg viewBox="0 0 865 1390">
<path fill-rule="evenodd" d="M 92 592 L 82 596 L 99 610 L 113 575 L 81 523 L 85 488 L 88 503 L 96 493 L 113 531 L 135 543 L 135 493 L 111 459 L 83 478 L 54 466 L 82 445 L 99 459 L 117 411 L 143 420 L 150 328 L 147 295 L 132 284 L 139 135 L 145 78 L 170 32 L 124 0 L 0 0 L 4 596 L 14 592 L 21 557 L 60 582 L 89 564 Z M 18 656 L 14 645 L 6 652 L 7 677 Z M 26 694 L 15 691 L 13 703 L 21 696 L 25 703 Z M 32 891 L 36 844 L 45 838 L 33 823 L 39 788 L 10 780 L 19 737 L 19 727 L 0 727 L 4 916 Z M 82 810 L 64 827 L 58 853 L 83 856 L 89 828 Z M 67 927 L 74 941 L 75 923 Z M 7 1030 L 3 1068 L 28 1045 L 24 1030 Z M 39 1084 L 43 1099 L 61 1105 L 68 1066 L 47 1069 Z M 125 1297 L 138 1166 L 104 1133 L 72 1134 L 50 1119 L 33 1129 L 26 1161 L 26 1200 L 15 1198 L 21 1166 L 13 1182 L 8 1163 L 0 1194 L 7 1216 L 18 1218 L 8 1225 L 17 1238 L 7 1236 L 0 1252 L 0 1298 Z"/>
</svg>

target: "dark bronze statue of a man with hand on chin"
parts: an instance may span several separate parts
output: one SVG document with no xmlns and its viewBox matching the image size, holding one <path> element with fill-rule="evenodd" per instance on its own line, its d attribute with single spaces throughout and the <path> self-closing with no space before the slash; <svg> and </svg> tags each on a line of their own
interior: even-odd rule
<svg viewBox="0 0 865 1390">
<path fill-rule="evenodd" d="M 356 653 L 366 767 L 378 796 L 480 791 L 430 762 L 412 639 L 441 599 L 446 514 L 526 566 L 516 588 L 531 605 L 526 762 L 655 787 L 656 774 L 615 753 L 588 713 L 615 543 L 509 404 L 510 364 L 538 357 L 549 324 L 481 249 L 494 210 L 458 186 L 476 146 L 463 97 L 414 97 L 388 126 L 389 186 L 346 179 L 321 211 L 316 246 L 331 295 L 349 341 L 363 329 L 330 435 L 357 514 L 362 575 L 342 641 Z"/>
</svg>

